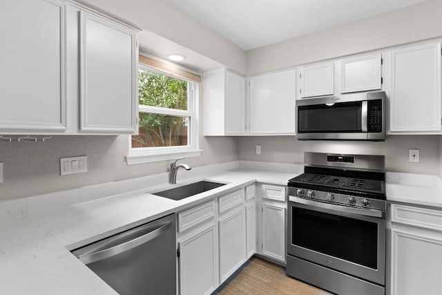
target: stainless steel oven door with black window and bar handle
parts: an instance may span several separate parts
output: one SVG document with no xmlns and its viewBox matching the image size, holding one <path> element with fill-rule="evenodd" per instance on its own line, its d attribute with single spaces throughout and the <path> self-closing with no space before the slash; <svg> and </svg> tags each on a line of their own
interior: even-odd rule
<svg viewBox="0 0 442 295">
<path fill-rule="evenodd" d="M 294 196 L 289 200 L 288 255 L 385 285 L 384 218 Z"/>
</svg>

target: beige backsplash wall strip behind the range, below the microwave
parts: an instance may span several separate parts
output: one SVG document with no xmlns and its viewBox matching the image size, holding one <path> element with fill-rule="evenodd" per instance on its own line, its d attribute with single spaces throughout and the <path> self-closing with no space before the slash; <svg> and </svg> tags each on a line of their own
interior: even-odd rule
<svg viewBox="0 0 442 295">
<path fill-rule="evenodd" d="M 387 135 L 385 142 L 299 141 L 294 136 L 240 137 L 240 160 L 303 164 L 304 152 L 385 155 L 387 171 L 439 175 L 438 135 Z M 256 155 L 256 145 L 261 154 Z M 408 162 L 408 149 L 420 150 L 420 162 Z"/>
</svg>

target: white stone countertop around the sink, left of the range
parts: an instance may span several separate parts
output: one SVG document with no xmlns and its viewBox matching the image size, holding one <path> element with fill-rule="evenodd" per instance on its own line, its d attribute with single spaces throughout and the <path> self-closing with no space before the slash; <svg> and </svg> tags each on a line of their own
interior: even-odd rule
<svg viewBox="0 0 442 295">
<path fill-rule="evenodd" d="M 70 250 L 169 213 L 182 211 L 255 181 L 287 185 L 296 173 L 235 169 L 206 178 L 228 183 L 184 200 L 148 192 L 171 184 L 0 221 L 0 294 L 117 294 Z"/>
</svg>

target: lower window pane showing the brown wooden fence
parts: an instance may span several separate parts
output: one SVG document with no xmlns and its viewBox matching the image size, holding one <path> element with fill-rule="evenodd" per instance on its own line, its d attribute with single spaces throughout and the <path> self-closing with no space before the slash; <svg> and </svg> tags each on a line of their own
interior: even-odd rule
<svg viewBox="0 0 442 295">
<path fill-rule="evenodd" d="M 189 117 L 140 113 L 139 135 L 132 136 L 132 148 L 186 146 Z"/>
</svg>

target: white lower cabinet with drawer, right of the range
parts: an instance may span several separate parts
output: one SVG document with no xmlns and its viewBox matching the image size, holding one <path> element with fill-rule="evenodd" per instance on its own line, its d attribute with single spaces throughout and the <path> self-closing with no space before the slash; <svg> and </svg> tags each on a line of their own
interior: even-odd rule
<svg viewBox="0 0 442 295">
<path fill-rule="evenodd" d="M 442 294 L 442 211 L 391 209 L 390 294 Z"/>
</svg>

